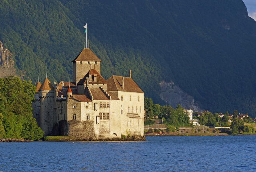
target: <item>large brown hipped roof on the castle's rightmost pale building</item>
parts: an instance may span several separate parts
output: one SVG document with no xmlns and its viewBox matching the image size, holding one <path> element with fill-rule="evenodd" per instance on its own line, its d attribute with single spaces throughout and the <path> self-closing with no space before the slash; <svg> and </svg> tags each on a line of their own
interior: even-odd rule
<svg viewBox="0 0 256 172">
<path fill-rule="evenodd" d="M 124 89 L 122 88 L 122 78 L 124 78 Z M 140 87 L 130 77 L 123 76 L 111 76 L 107 80 L 108 91 L 125 91 L 125 92 L 137 92 L 144 93 Z"/>
</svg>

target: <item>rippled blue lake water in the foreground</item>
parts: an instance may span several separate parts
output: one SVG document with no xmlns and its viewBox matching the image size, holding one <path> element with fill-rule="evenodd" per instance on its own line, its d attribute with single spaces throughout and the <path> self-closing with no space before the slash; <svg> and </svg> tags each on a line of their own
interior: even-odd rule
<svg viewBox="0 0 256 172">
<path fill-rule="evenodd" d="M 0 143 L 0 171 L 256 171 L 256 136 Z"/>
</svg>

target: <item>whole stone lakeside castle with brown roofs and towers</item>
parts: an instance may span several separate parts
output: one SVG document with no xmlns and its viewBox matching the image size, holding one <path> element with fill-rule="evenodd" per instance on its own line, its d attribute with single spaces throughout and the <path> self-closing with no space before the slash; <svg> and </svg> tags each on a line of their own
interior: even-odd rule
<svg viewBox="0 0 256 172">
<path fill-rule="evenodd" d="M 144 92 L 129 77 L 100 75 L 101 60 L 84 48 L 73 62 L 73 82 L 36 83 L 33 116 L 44 136 L 86 139 L 143 136 Z"/>
</svg>

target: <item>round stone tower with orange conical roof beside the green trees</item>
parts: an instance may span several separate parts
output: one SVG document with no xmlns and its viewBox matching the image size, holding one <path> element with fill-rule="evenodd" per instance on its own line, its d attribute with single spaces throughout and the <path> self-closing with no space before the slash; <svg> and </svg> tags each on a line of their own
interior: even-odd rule
<svg viewBox="0 0 256 172">
<path fill-rule="evenodd" d="M 44 131 L 44 136 L 48 136 L 55 124 L 54 88 L 48 78 L 45 78 L 40 86 L 38 97 L 40 99 L 40 128 Z"/>
</svg>

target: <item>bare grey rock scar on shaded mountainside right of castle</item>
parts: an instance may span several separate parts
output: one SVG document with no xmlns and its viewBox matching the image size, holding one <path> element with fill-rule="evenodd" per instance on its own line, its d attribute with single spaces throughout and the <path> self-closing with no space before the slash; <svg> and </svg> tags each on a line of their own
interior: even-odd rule
<svg viewBox="0 0 256 172">
<path fill-rule="evenodd" d="M 202 112 L 198 104 L 194 102 L 194 98 L 186 93 L 184 93 L 179 86 L 174 85 L 174 82 L 160 82 L 161 93 L 160 97 L 170 104 L 173 108 L 176 108 L 178 104 L 185 109 L 193 109 L 196 112 Z"/>
</svg>

